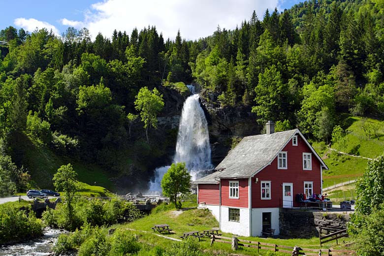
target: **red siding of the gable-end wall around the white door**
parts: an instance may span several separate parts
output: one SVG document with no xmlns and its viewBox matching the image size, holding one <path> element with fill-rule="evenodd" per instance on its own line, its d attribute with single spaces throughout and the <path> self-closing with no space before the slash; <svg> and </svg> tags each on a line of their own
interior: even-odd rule
<svg viewBox="0 0 384 256">
<path fill-rule="evenodd" d="M 289 141 L 282 151 L 287 151 L 287 167 L 288 169 L 277 168 L 277 157 L 270 165 L 257 173 L 252 178 L 252 208 L 282 207 L 283 206 L 283 187 L 282 183 L 293 183 L 293 202 L 295 203 L 295 195 L 304 193 L 304 181 L 313 182 L 313 192 L 320 193 L 321 176 L 320 161 L 312 153 L 305 141 L 298 135 L 297 146 L 292 146 Z M 312 153 L 312 170 L 303 170 L 303 152 Z M 255 178 L 258 183 L 255 184 Z M 261 181 L 271 181 L 271 199 L 261 200 L 260 184 Z"/>
</svg>

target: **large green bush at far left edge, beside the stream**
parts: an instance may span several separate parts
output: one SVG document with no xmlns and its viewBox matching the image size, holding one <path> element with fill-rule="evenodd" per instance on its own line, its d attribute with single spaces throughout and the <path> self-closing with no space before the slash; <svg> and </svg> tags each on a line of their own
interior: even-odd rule
<svg viewBox="0 0 384 256">
<path fill-rule="evenodd" d="M 0 205 L 0 244 L 18 242 L 43 235 L 43 224 L 31 206 L 20 208 L 18 203 Z"/>
</svg>

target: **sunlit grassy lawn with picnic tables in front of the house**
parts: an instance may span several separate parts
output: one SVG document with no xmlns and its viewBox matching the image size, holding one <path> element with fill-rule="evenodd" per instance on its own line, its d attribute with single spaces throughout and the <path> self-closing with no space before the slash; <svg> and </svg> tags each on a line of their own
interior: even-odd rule
<svg viewBox="0 0 384 256">
<path fill-rule="evenodd" d="M 151 227 L 154 224 L 168 224 L 170 228 L 173 230 L 172 234 L 164 234 L 168 237 L 173 237 L 180 239 L 179 236 L 182 235 L 183 232 L 188 231 L 202 231 L 205 229 L 211 229 L 213 227 L 218 227 L 219 223 L 212 216 L 209 210 L 207 209 L 196 209 L 193 206 L 193 203 L 189 203 L 187 205 L 183 204 L 183 210 L 176 211 L 172 205 L 160 205 L 155 208 L 151 215 L 148 215 L 142 219 L 136 220 L 129 224 L 119 225 L 116 228 L 125 228 L 125 229 L 134 229 L 134 232 L 138 235 L 140 242 L 143 244 L 151 244 L 153 246 L 158 245 L 161 247 L 167 247 L 171 243 L 174 243 L 170 240 L 161 238 L 156 236 Z M 193 224 L 193 225 L 191 225 Z M 146 232 L 142 232 L 146 231 Z M 223 233 L 225 237 L 232 237 L 233 234 Z M 239 237 L 240 239 L 247 239 L 251 241 L 259 241 L 263 243 L 271 243 L 278 245 L 286 245 L 293 247 L 294 245 L 298 245 L 302 248 L 314 248 L 320 249 L 319 246 L 319 238 L 313 237 L 311 239 L 274 239 L 274 238 L 260 238 L 260 237 Z M 349 242 L 349 238 L 343 239 L 346 242 Z M 177 243 L 177 242 L 176 242 Z M 231 246 L 229 244 L 223 243 L 214 243 L 213 246 L 210 246 L 211 240 L 208 237 L 203 237 L 200 241 L 201 249 L 208 253 L 208 255 L 217 255 L 217 254 L 229 254 L 233 253 L 231 251 Z M 343 243 L 341 245 L 336 246 L 336 241 L 330 242 L 326 245 L 322 246 L 322 249 L 326 248 L 343 248 Z M 265 255 L 267 251 L 260 251 L 261 255 Z M 257 250 L 255 248 L 245 248 L 241 247 L 238 251 L 236 251 L 238 255 L 259 255 L 257 254 Z"/>
</svg>

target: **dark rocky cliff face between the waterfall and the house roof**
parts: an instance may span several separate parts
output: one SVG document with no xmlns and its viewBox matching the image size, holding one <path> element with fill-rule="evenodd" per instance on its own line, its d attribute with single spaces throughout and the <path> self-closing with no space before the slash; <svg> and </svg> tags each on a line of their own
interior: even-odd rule
<svg viewBox="0 0 384 256">
<path fill-rule="evenodd" d="M 256 123 L 256 114 L 251 112 L 251 106 L 239 104 L 222 108 L 217 101 L 217 94 L 202 90 L 200 96 L 208 120 L 212 162 L 216 166 L 230 150 L 232 138 L 259 134 L 260 127 Z"/>
</svg>

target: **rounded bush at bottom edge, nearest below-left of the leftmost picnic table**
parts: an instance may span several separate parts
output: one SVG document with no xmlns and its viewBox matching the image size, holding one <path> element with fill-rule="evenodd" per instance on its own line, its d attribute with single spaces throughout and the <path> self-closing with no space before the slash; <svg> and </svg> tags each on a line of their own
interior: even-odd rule
<svg viewBox="0 0 384 256">
<path fill-rule="evenodd" d="M 110 248 L 109 256 L 125 256 L 138 253 L 141 245 L 135 235 L 117 230 L 110 239 Z"/>
</svg>

